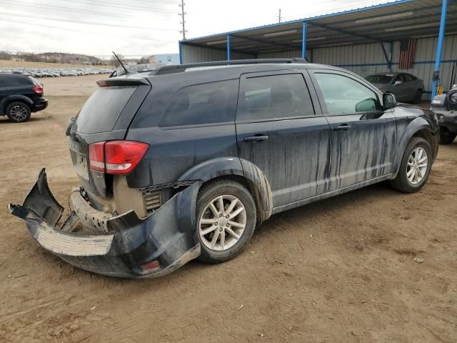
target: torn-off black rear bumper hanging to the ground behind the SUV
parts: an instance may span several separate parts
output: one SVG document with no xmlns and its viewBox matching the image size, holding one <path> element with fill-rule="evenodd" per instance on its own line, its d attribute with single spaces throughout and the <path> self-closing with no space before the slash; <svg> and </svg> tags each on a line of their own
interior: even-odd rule
<svg viewBox="0 0 457 343">
<path fill-rule="evenodd" d="M 24 203 L 9 204 L 8 208 L 11 214 L 24 219 L 41 247 L 75 267 L 111 277 L 159 277 L 199 257 L 195 234 L 198 189 L 199 183 L 191 185 L 145 219 L 134 211 L 106 218 L 105 212 L 95 213 L 81 193 L 74 191 L 74 212 L 57 227 L 64 207 L 54 199 L 46 172 L 41 169 Z M 106 232 L 73 232 L 77 224 L 88 220 L 92 224 L 101 221 Z"/>
</svg>

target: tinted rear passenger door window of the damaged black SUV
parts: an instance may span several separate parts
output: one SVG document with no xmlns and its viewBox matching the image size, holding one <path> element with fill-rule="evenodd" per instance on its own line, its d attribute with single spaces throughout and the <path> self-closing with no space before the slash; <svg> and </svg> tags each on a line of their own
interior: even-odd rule
<svg viewBox="0 0 457 343">
<path fill-rule="evenodd" d="M 239 95 L 237 121 L 288 119 L 314 114 L 302 74 L 248 77 Z"/>
</svg>

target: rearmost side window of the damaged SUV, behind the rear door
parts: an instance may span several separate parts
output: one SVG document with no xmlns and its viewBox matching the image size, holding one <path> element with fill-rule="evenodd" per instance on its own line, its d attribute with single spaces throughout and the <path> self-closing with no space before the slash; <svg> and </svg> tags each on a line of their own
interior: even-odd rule
<svg viewBox="0 0 457 343">
<path fill-rule="evenodd" d="M 174 94 L 160 127 L 226 123 L 235 120 L 238 80 L 187 86 Z"/>
</svg>

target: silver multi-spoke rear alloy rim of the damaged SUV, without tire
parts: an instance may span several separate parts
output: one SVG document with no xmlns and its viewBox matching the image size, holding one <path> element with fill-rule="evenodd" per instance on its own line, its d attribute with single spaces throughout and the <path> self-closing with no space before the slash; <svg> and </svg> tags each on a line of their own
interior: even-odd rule
<svg viewBox="0 0 457 343">
<path fill-rule="evenodd" d="M 246 227 L 246 209 L 233 195 L 221 195 L 206 205 L 199 219 L 201 242 L 209 249 L 223 252 L 233 247 Z"/>
</svg>

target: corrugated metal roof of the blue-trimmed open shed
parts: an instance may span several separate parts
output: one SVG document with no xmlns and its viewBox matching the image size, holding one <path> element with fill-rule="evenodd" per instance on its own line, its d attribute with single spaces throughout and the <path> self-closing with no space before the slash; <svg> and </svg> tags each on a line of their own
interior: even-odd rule
<svg viewBox="0 0 457 343">
<path fill-rule="evenodd" d="M 247 54 L 301 49 L 303 21 L 308 23 L 306 47 L 394 41 L 411 36 L 437 35 L 441 0 L 398 0 L 374 6 L 257 26 L 182 41 L 183 44 Z M 449 0 L 446 32 L 457 31 L 457 1 Z"/>
</svg>

